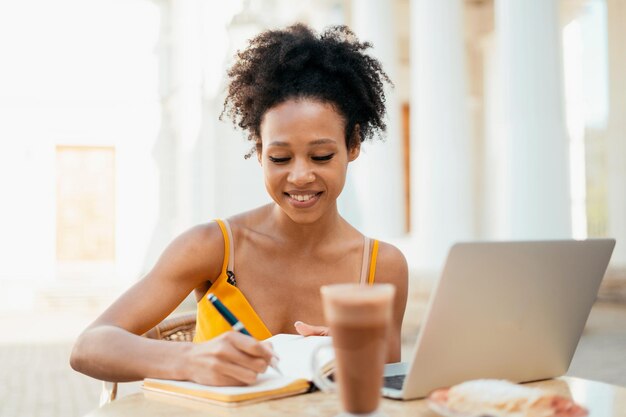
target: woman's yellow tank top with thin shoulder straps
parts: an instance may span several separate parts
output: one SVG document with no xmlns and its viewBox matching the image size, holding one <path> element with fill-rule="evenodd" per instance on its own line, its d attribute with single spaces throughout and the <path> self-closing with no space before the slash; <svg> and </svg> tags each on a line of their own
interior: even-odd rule
<svg viewBox="0 0 626 417">
<path fill-rule="evenodd" d="M 246 297 L 239 289 L 233 285 L 231 277 L 234 276 L 234 251 L 232 233 L 230 226 L 225 220 L 216 220 L 222 235 L 224 236 L 224 261 L 219 277 L 211 285 L 207 291 L 215 294 L 229 310 L 231 310 L 237 318 L 248 329 L 250 334 L 257 340 L 264 340 L 272 336 L 267 329 L 263 320 L 258 316 L 252 308 Z M 361 284 L 372 285 L 376 274 L 376 258 L 378 255 L 378 240 L 373 241 L 370 256 L 370 239 L 365 238 L 363 245 L 363 264 L 361 265 Z M 369 260 L 369 268 L 368 268 Z M 206 295 L 198 302 L 198 310 L 196 317 L 196 334 L 193 338 L 194 342 L 205 342 L 220 334 L 227 332 L 231 326 L 226 320 L 215 310 Z"/>
</svg>

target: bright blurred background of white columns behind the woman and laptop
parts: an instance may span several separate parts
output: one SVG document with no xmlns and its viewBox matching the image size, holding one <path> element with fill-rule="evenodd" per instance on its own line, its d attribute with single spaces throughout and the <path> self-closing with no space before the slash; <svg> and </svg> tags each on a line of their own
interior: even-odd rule
<svg viewBox="0 0 626 417">
<path fill-rule="evenodd" d="M 350 26 L 395 84 L 339 205 L 407 257 L 406 343 L 454 242 L 609 236 L 570 373 L 626 385 L 626 2 L 0 0 L 0 414 L 97 406 L 78 333 L 176 235 L 269 201 L 218 117 L 236 51 L 295 22 Z"/>
</svg>

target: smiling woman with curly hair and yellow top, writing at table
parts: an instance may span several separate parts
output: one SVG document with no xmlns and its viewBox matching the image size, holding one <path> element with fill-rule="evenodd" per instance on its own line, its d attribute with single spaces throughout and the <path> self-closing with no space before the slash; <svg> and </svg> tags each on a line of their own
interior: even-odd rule
<svg viewBox="0 0 626 417">
<path fill-rule="evenodd" d="M 349 163 L 363 141 L 385 129 L 383 82 L 389 80 L 363 53 L 369 47 L 343 26 L 317 36 L 297 24 L 261 33 L 238 53 L 224 112 L 249 133 L 248 156 L 256 152 L 273 202 L 175 239 L 79 337 L 74 369 L 118 382 L 250 384 L 272 358 L 271 346 L 259 340 L 325 334 L 319 289 L 343 282 L 396 286 L 387 359 L 400 360 L 406 260 L 392 245 L 364 237 L 337 210 Z M 195 343 L 139 336 L 191 291 L 198 300 Z M 254 338 L 230 330 L 208 292 Z"/>
</svg>

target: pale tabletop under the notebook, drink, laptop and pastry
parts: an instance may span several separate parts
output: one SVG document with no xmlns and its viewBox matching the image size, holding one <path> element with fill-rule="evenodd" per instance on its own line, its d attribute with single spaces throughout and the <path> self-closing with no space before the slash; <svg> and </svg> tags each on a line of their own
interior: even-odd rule
<svg viewBox="0 0 626 417">
<path fill-rule="evenodd" d="M 626 388 L 587 379 L 561 377 L 528 384 L 573 398 L 587 407 L 589 417 L 626 417 Z M 389 417 L 438 417 L 426 401 L 382 400 Z M 167 417 L 263 417 L 311 416 L 333 417 L 339 412 L 334 394 L 315 392 L 289 398 L 265 401 L 234 408 L 216 406 L 171 395 L 142 392 L 113 401 L 86 417 L 167 416 Z"/>
</svg>

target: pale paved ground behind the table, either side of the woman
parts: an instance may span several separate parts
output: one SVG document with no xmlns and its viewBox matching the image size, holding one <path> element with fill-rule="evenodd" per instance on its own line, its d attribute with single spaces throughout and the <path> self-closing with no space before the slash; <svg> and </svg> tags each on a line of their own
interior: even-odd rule
<svg viewBox="0 0 626 417">
<path fill-rule="evenodd" d="M 424 303 L 409 305 L 420 317 Z M 0 315 L 0 416 L 79 417 L 98 404 L 101 384 L 69 367 L 72 340 L 93 312 Z M 403 357 L 417 323 L 406 322 Z M 626 386 L 626 304 L 597 303 L 574 355 L 569 375 Z M 139 390 L 121 384 L 120 395 Z"/>
</svg>

